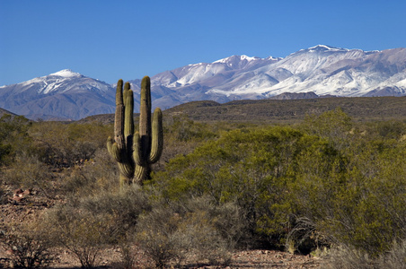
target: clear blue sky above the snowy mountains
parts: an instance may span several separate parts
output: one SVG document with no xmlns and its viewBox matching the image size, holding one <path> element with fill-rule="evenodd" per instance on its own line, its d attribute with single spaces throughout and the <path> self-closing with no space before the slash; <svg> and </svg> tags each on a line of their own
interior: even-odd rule
<svg viewBox="0 0 406 269">
<path fill-rule="evenodd" d="M 0 85 L 62 69 L 104 82 L 317 44 L 406 47 L 405 0 L 0 0 Z"/>
</svg>

